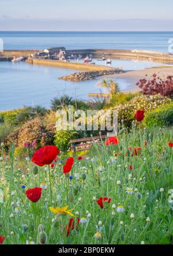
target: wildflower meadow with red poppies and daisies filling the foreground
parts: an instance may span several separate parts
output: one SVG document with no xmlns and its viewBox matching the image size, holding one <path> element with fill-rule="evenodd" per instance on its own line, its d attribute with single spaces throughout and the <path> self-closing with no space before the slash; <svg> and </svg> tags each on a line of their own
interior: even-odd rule
<svg viewBox="0 0 173 256">
<path fill-rule="evenodd" d="M 87 152 L 0 158 L 0 244 L 172 244 L 172 129 L 119 127 Z"/>
</svg>

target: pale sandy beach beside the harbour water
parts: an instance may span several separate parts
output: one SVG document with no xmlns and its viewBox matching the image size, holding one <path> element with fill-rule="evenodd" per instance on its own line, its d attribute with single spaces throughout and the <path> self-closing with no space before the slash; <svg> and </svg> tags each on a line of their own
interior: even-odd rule
<svg viewBox="0 0 173 256">
<path fill-rule="evenodd" d="M 153 74 L 159 74 L 160 78 L 166 78 L 168 75 L 173 75 L 173 67 L 155 67 L 155 68 L 146 68 L 145 70 L 135 70 L 135 71 L 125 71 L 122 74 L 115 74 L 105 76 L 105 78 L 118 78 L 128 81 L 131 85 L 130 88 L 122 90 L 122 92 L 136 92 L 138 90 L 138 86 L 136 83 L 145 78 L 147 74 L 147 78 L 151 79 Z"/>
</svg>

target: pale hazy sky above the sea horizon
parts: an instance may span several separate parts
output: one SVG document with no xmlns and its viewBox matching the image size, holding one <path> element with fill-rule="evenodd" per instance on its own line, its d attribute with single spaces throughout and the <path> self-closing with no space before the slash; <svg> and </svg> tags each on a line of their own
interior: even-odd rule
<svg viewBox="0 0 173 256">
<path fill-rule="evenodd" d="M 173 31 L 172 0 L 0 0 L 0 30 Z"/>
</svg>

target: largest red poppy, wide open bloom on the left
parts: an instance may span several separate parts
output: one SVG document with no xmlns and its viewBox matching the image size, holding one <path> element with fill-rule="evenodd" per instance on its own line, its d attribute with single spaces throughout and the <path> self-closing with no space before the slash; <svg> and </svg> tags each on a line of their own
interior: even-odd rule
<svg viewBox="0 0 173 256">
<path fill-rule="evenodd" d="M 45 146 L 38 149 L 32 156 L 32 162 L 38 166 L 44 166 L 45 164 L 51 164 L 56 158 L 60 150 L 55 146 Z"/>
</svg>

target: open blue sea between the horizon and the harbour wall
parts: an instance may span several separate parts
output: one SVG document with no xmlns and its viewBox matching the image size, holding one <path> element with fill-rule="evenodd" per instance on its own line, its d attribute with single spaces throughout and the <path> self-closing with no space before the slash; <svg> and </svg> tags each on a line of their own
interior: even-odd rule
<svg viewBox="0 0 173 256">
<path fill-rule="evenodd" d="M 141 49 L 168 52 L 172 32 L 9 32 L 0 31 L 4 49 Z"/>
</svg>

